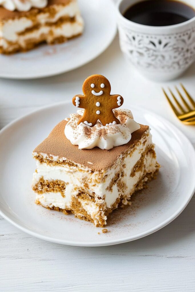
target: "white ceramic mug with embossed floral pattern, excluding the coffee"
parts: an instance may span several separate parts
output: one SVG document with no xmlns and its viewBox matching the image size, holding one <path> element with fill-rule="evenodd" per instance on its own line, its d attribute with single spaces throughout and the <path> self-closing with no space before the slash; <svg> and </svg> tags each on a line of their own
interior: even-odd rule
<svg viewBox="0 0 195 292">
<path fill-rule="evenodd" d="M 177 25 L 148 26 L 122 14 L 141 0 L 120 0 L 117 7 L 120 48 L 145 77 L 168 81 L 195 61 L 195 17 Z M 195 8 L 195 0 L 182 0 Z"/>
</svg>

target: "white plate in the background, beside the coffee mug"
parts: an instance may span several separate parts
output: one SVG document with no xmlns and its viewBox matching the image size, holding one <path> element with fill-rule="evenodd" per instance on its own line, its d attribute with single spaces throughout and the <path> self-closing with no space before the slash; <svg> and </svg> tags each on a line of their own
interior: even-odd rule
<svg viewBox="0 0 195 292">
<path fill-rule="evenodd" d="M 27 53 L 0 55 L 0 77 L 14 79 L 48 77 L 78 68 L 105 51 L 116 34 L 113 2 L 111 0 L 78 0 L 78 2 L 85 25 L 82 36 L 64 44 L 38 46 Z"/>
</svg>

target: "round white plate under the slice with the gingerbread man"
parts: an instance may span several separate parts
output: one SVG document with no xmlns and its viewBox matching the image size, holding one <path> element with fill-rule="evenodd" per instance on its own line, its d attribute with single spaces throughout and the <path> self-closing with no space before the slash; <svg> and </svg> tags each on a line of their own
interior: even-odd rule
<svg viewBox="0 0 195 292">
<path fill-rule="evenodd" d="M 127 106 L 127 105 L 126 105 Z M 136 121 L 151 127 L 161 164 L 156 180 L 134 197 L 132 206 L 114 211 L 108 233 L 92 223 L 34 204 L 36 163 L 32 151 L 52 128 L 73 112 L 70 102 L 40 109 L 0 131 L 0 214 L 33 236 L 76 246 L 104 246 L 151 234 L 175 219 L 195 191 L 195 151 L 189 140 L 162 117 L 130 107 Z M 98 234 L 100 232 L 100 234 Z"/>
</svg>

